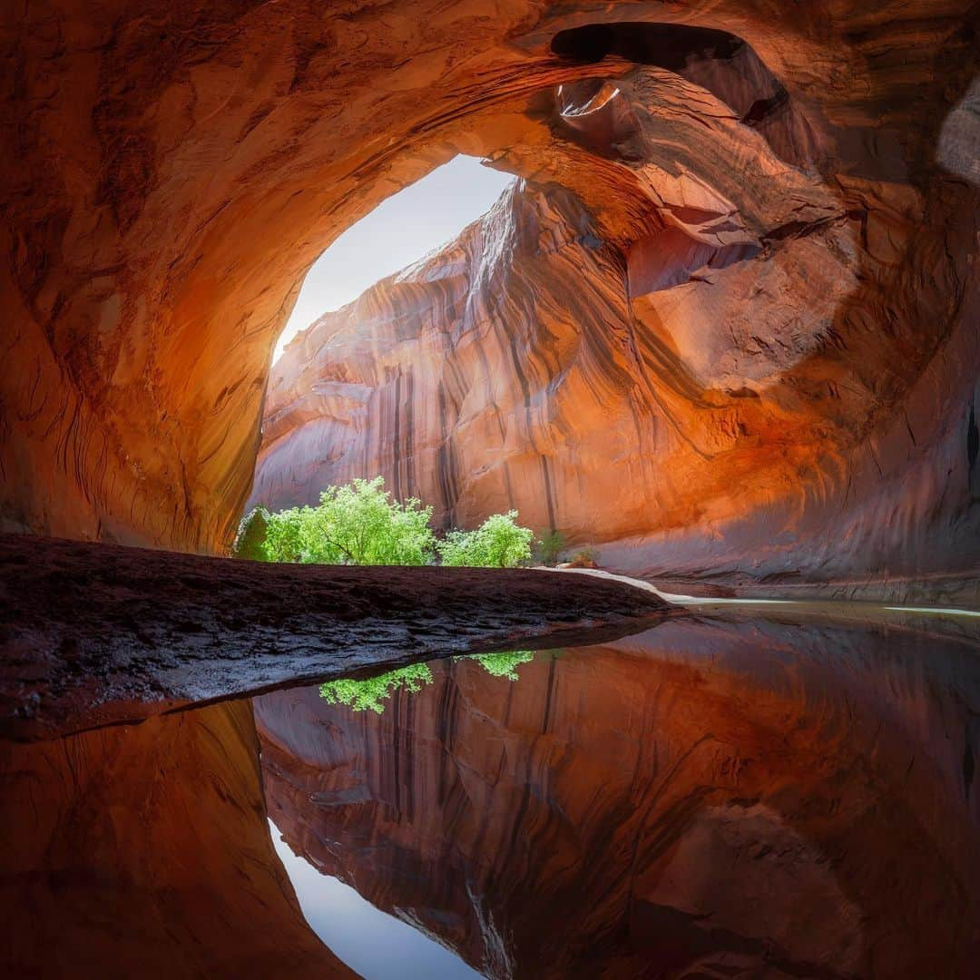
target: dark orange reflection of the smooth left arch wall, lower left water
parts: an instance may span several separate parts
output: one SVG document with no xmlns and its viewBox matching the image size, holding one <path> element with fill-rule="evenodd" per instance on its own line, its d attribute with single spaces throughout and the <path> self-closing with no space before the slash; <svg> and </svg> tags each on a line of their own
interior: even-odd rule
<svg viewBox="0 0 980 980">
<path fill-rule="evenodd" d="M 353 977 L 276 857 L 242 702 L 0 743 L 5 976 Z"/>
</svg>

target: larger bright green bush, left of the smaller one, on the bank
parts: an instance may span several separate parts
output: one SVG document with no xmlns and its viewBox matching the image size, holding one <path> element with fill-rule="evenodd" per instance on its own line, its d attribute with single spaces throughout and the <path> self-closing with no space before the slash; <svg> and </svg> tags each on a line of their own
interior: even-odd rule
<svg viewBox="0 0 980 980">
<path fill-rule="evenodd" d="M 327 487 L 318 507 L 292 508 L 268 518 L 271 562 L 425 564 L 432 558 L 430 507 L 391 499 L 384 479 Z"/>
</svg>

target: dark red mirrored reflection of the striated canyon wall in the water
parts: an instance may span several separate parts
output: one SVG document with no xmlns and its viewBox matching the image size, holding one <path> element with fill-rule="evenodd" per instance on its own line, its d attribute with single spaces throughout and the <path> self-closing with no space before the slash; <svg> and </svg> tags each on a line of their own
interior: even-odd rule
<svg viewBox="0 0 980 980">
<path fill-rule="evenodd" d="M 381 715 L 266 695 L 270 816 L 490 977 L 966 977 L 980 673 L 915 625 L 672 621 L 515 682 L 435 663 Z"/>
</svg>

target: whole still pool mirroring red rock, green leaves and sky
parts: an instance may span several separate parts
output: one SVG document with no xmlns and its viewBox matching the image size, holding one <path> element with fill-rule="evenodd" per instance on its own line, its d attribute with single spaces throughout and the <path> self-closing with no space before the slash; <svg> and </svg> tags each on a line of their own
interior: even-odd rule
<svg viewBox="0 0 980 980">
<path fill-rule="evenodd" d="M 0 974 L 972 976 L 974 623 L 865 615 L 0 743 Z"/>
</svg>

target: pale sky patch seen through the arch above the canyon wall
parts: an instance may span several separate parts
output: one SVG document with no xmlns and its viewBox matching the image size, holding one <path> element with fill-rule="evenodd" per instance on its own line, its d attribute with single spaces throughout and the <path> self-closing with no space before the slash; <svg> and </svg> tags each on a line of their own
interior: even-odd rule
<svg viewBox="0 0 980 980">
<path fill-rule="evenodd" d="M 490 210 L 512 180 L 512 174 L 484 167 L 475 157 L 455 157 L 382 201 L 310 268 L 273 363 L 296 333 L 328 310 L 339 310 L 378 279 L 452 241 Z"/>
</svg>

